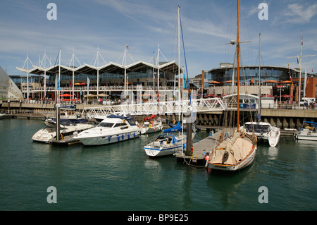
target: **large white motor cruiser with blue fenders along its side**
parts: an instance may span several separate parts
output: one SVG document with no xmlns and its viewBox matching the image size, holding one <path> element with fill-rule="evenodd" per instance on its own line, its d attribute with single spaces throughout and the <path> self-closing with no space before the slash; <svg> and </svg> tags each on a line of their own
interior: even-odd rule
<svg viewBox="0 0 317 225">
<path fill-rule="evenodd" d="M 138 138 L 140 134 L 135 118 L 117 113 L 106 116 L 98 126 L 79 133 L 74 139 L 79 139 L 83 145 L 108 145 Z"/>
</svg>

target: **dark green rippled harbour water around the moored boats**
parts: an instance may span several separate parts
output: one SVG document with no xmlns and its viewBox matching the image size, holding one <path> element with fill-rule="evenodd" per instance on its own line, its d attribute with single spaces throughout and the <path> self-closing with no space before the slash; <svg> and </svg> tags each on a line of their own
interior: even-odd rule
<svg viewBox="0 0 317 225">
<path fill-rule="evenodd" d="M 173 156 L 149 159 L 145 135 L 112 145 L 58 147 L 31 140 L 43 127 L 40 120 L 0 120 L 0 210 L 317 209 L 313 141 L 281 137 L 277 147 L 260 142 L 249 168 L 208 174 Z M 208 135 L 197 134 L 194 140 Z M 57 203 L 49 204 L 51 186 Z M 261 187 L 268 203 L 259 202 Z"/>
</svg>

